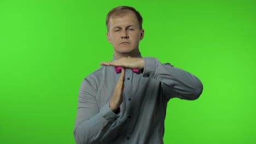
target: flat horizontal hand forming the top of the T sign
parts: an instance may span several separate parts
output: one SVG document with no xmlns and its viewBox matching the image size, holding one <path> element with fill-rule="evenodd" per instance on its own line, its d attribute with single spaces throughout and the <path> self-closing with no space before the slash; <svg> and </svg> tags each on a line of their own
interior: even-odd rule
<svg viewBox="0 0 256 144">
<path fill-rule="evenodd" d="M 130 69 L 143 69 L 144 58 L 138 57 L 123 57 L 112 62 L 101 62 L 101 65 L 105 66 L 120 66 Z"/>
</svg>

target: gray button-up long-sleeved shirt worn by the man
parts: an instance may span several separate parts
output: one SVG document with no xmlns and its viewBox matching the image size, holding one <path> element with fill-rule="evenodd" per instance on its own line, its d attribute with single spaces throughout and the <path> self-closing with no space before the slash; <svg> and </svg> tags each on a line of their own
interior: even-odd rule
<svg viewBox="0 0 256 144">
<path fill-rule="evenodd" d="M 168 100 L 194 100 L 202 92 L 202 83 L 194 75 L 144 57 L 143 73 L 125 70 L 123 103 L 115 114 L 109 101 L 119 77 L 114 67 L 103 66 L 83 80 L 74 128 L 78 144 L 164 143 Z"/>
</svg>

